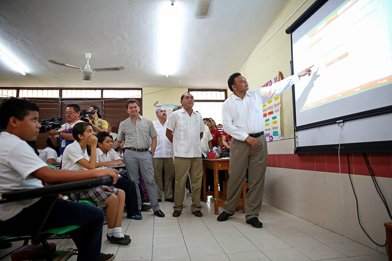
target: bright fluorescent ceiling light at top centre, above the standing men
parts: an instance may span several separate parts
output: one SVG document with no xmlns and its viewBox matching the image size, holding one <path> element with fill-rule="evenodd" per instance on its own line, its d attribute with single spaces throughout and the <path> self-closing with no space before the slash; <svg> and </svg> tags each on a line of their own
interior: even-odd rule
<svg viewBox="0 0 392 261">
<path fill-rule="evenodd" d="M 163 1 L 159 14 L 158 71 L 166 77 L 178 71 L 183 24 L 182 3 L 171 5 L 171 1 Z"/>
</svg>

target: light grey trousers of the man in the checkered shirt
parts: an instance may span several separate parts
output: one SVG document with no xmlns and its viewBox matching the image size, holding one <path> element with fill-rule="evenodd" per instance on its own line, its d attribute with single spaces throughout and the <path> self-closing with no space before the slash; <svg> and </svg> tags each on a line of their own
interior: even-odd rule
<svg viewBox="0 0 392 261">
<path fill-rule="evenodd" d="M 127 175 L 135 184 L 138 183 L 139 168 L 144 183 L 146 184 L 147 193 L 150 198 L 152 211 L 159 210 L 158 192 L 156 190 L 154 169 L 152 168 L 152 157 L 150 152 L 136 152 L 133 150 L 124 151 L 124 163 L 127 167 Z M 140 198 L 139 186 L 136 185 L 136 194 L 138 196 L 138 208 L 142 209 L 142 199 Z"/>
</svg>

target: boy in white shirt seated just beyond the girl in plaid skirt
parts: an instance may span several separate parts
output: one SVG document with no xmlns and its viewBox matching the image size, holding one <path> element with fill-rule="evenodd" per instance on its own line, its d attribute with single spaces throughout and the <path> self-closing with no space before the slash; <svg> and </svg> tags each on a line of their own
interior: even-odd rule
<svg viewBox="0 0 392 261">
<path fill-rule="evenodd" d="M 125 165 L 120 156 L 112 149 L 113 137 L 107 132 L 100 132 L 96 135 L 98 139 L 97 144 L 97 165 L 98 166 L 111 166 L 111 165 Z M 131 219 L 142 219 L 139 215 L 138 209 L 138 196 L 136 192 L 136 185 L 129 179 L 118 179 L 116 185 L 112 182 L 103 185 L 113 186 L 125 191 L 125 205 L 127 206 L 127 217 Z"/>
</svg>

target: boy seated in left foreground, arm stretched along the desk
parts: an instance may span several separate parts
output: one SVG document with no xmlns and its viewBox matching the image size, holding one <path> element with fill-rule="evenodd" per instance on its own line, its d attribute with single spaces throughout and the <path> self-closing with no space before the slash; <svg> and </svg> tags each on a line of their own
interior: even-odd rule
<svg viewBox="0 0 392 261">
<path fill-rule="evenodd" d="M 113 169 L 65 171 L 50 169 L 25 140 L 36 140 L 41 127 L 39 108 L 22 99 L 4 101 L 0 107 L 0 196 L 14 190 L 40 188 L 45 183 L 63 183 L 102 176 L 117 181 Z M 45 216 L 52 199 L 38 198 L 0 205 L 0 231 L 3 235 L 33 233 Z M 73 201 L 56 200 L 43 230 L 82 225 L 69 234 L 75 242 L 78 260 L 109 261 L 113 254 L 100 254 L 104 215 L 99 208 Z"/>
</svg>

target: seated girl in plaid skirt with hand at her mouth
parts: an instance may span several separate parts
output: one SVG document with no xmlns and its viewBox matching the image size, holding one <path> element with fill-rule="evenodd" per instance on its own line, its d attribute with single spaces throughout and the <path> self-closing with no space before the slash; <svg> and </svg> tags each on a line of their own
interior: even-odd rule
<svg viewBox="0 0 392 261">
<path fill-rule="evenodd" d="M 97 145 L 97 138 L 90 123 L 76 123 L 72 130 L 75 141 L 65 147 L 63 152 L 62 169 L 84 170 L 96 168 L 96 149 L 87 153 L 87 145 L 93 148 Z M 70 200 L 87 199 L 96 203 L 103 203 L 106 207 L 107 239 L 110 243 L 128 245 L 129 236 L 122 233 L 122 216 L 124 213 L 125 192 L 114 187 L 101 187 L 67 194 Z"/>
</svg>

